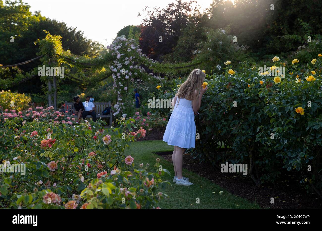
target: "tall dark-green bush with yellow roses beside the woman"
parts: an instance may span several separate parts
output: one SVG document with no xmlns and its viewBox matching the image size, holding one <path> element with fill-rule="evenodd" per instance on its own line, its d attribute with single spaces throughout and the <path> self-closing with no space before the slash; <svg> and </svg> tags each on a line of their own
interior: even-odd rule
<svg viewBox="0 0 322 231">
<path fill-rule="evenodd" d="M 259 75 L 259 66 L 248 63 L 242 63 L 243 71 L 232 75 L 228 70 L 235 63 L 223 75 L 207 75 L 208 90 L 200 114 L 195 116 L 200 139 L 191 153 L 216 166 L 226 161 L 248 164 L 248 173 L 258 186 L 275 184 L 285 168 L 296 172 L 303 186 L 312 186 L 321 196 L 322 66 L 321 57 L 316 58 L 315 64 L 313 60 L 302 66 L 287 65 L 281 79 L 271 70 Z M 284 66 L 281 61 L 272 65 L 270 69 Z M 315 80 L 308 81 L 312 77 Z M 173 98 L 180 81 L 175 80 L 171 91 L 159 91 L 156 97 Z M 166 115 L 168 110 L 159 112 Z"/>
</svg>

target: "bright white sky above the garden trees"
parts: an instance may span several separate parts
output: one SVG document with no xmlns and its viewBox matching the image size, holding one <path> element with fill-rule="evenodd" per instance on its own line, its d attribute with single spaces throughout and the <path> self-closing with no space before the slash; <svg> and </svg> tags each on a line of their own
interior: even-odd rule
<svg viewBox="0 0 322 231">
<path fill-rule="evenodd" d="M 41 11 L 41 15 L 63 21 L 67 26 L 77 27 L 85 37 L 109 45 L 118 31 L 127 25 L 139 25 L 142 17 L 137 17 L 145 6 L 161 9 L 175 0 L 23 0 L 31 6 L 31 12 Z M 188 0 L 187 0 L 188 1 Z M 196 0 L 201 10 L 212 0 Z M 105 40 L 106 39 L 106 40 Z"/>
</svg>

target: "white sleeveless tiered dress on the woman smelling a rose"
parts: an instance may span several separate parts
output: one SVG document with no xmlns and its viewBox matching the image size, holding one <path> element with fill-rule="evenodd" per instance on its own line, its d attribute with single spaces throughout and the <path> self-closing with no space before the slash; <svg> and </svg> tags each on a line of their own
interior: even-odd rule
<svg viewBox="0 0 322 231">
<path fill-rule="evenodd" d="M 168 145 L 181 148 L 194 148 L 196 140 L 196 125 L 192 101 L 177 97 L 173 112 L 166 126 L 163 141 Z"/>
</svg>

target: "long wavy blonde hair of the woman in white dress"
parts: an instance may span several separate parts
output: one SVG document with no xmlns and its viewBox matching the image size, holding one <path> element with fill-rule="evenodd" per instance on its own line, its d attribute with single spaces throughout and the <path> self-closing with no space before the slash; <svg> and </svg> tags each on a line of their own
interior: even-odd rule
<svg viewBox="0 0 322 231">
<path fill-rule="evenodd" d="M 206 75 L 200 69 L 194 69 L 187 80 L 181 84 L 176 96 L 178 98 L 188 98 L 194 100 L 194 90 L 200 92 L 201 85 Z"/>
</svg>

